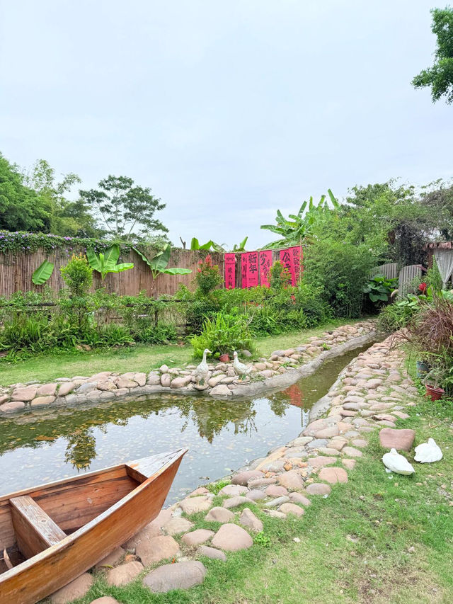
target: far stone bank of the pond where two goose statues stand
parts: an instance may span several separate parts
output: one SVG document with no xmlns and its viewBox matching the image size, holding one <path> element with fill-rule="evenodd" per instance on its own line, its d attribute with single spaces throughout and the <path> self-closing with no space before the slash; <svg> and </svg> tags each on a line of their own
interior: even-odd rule
<svg viewBox="0 0 453 604">
<path fill-rule="evenodd" d="M 91 377 L 59 377 L 50 384 L 13 384 L 0 387 L 0 414 L 170 392 L 204 392 L 217 398 L 251 397 L 270 389 L 284 388 L 314 372 L 324 360 L 365 345 L 374 338 L 374 330 L 374 321 L 361 321 L 326 331 L 319 337 L 310 338 L 309 343 L 286 351 L 274 351 L 270 358 L 252 363 L 251 377 L 243 380 L 239 380 L 234 372 L 233 363 L 217 363 L 209 365 L 203 384 L 197 384 L 195 380 L 194 365 L 185 369 L 162 365 L 159 370 L 149 373 L 102 371 Z"/>
</svg>

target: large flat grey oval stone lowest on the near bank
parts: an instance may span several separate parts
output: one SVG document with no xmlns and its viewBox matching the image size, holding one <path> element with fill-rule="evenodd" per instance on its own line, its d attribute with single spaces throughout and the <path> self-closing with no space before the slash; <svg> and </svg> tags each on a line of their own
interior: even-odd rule
<svg viewBox="0 0 453 604">
<path fill-rule="evenodd" d="M 173 589 L 188 589 L 205 580 L 206 569 L 201 562 L 189 560 L 164 564 L 147 574 L 143 584 L 153 593 L 166 593 Z"/>
</svg>

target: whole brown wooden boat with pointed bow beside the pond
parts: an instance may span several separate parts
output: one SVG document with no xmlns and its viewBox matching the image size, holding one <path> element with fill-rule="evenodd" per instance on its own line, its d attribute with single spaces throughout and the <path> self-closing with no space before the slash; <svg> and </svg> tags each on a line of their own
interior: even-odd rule
<svg viewBox="0 0 453 604">
<path fill-rule="evenodd" d="M 156 518 L 186 451 L 0 497 L 0 603 L 35 604 Z"/>
</svg>

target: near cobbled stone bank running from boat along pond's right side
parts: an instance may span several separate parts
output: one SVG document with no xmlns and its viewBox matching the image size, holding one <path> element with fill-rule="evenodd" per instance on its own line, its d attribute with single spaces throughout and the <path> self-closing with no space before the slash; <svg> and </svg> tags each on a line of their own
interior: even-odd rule
<svg viewBox="0 0 453 604">
<path fill-rule="evenodd" d="M 230 552 L 253 547 L 266 517 L 282 522 L 302 517 L 313 498 L 328 497 L 336 485 L 348 482 L 372 431 L 379 430 L 383 452 L 391 446 L 411 448 L 415 434 L 397 426 L 409 417 L 405 409 L 416 404 L 418 393 L 404 375 L 405 356 L 394 341 L 387 338 L 352 360 L 323 398 L 324 416 L 297 438 L 233 474 L 217 495 L 200 487 L 161 511 L 100 562 L 97 571 L 105 572 L 108 585 L 139 580 L 161 593 L 202 583 L 207 573 L 203 560 L 225 561 Z M 212 528 L 197 528 L 200 513 L 203 526 Z M 79 586 L 86 593 L 92 581 L 90 573 L 79 577 L 74 593 L 80 597 Z M 52 596 L 52 602 L 70 602 L 71 585 Z M 60 598 L 62 592 L 66 599 Z M 116 602 L 105 596 L 91 604 Z"/>
</svg>

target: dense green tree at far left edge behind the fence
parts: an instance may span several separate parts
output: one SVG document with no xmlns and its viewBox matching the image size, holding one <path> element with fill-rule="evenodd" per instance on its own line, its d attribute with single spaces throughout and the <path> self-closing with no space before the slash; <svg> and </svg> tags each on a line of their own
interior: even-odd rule
<svg viewBox="0 0 453 604">
<path fill-rule="evenodd" d="M 0 154 L 0 229 L 48 233 L 52 205 L 24 183 L 16 164 Z"/>
</svg>

